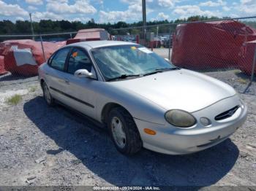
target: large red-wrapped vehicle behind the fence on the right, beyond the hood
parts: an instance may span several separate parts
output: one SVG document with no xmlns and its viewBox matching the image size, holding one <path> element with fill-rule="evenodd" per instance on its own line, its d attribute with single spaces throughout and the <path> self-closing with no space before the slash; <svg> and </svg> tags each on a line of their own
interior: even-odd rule
<svg viewBox="0 0 256 191">
<path fill-rule="evenodd" d="M 187 69 L 239 69 L 242 44 L 255 39 L 255 28 L 234 20 L 181 24 L 173 34 L 171 60 Z"/>
</svg>

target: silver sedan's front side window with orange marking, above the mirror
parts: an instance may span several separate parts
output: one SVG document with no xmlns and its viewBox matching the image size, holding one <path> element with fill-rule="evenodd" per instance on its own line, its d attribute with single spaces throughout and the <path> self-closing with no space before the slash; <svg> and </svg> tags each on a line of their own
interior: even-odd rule
<svg viewBox="0 0 256 191">
<path fill-rule="evenodd" d="M 91 72 L 92 67 L 91 60 L 89 59 L 89 56 L 86 55 L 86 52 L 83 52 L 83 50 L 78 48 L 73 48 L 69 57 L 67 72 L 74 74 L 75 71 L 79 69 L 87 69 Z"/>
</svg>

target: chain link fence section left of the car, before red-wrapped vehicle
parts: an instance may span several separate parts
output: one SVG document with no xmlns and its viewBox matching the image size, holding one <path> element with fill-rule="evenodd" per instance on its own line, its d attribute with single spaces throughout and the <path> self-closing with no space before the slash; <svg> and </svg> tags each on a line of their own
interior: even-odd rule
<svg viewBox="0 0 256 191">
<path fill-rule="evenodd" d="M 37 75 L 38 66 L 63 47 L 77 32 L 60 34 L 26 34 L 0 36 L 0 77 Z M 3 77 L 0 79 L 4 80 Z"/>
</svg>

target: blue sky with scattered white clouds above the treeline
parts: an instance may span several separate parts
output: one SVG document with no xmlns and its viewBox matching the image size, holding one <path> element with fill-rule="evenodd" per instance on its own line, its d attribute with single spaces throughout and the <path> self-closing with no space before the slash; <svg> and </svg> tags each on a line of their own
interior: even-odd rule
<svg viewBox="0 0 256 191">
<path fill-rule="evenodd" d="M 141 0 L 0 0 L 0 20 L 42 19 L 96 23 L 142 20 Z M 256 15 L 256 0 L 146 0 L 147 20 L 176 20 L 192 15 Z"/>
</svg>

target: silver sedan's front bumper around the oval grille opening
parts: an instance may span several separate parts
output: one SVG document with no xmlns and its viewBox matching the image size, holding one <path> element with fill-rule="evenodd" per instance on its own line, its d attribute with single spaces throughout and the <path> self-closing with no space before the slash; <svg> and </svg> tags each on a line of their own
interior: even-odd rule
<svg viewBox="0 0 256 191">
<path fill-rule="evenodd" d="M 214 120 L 217 114 L 236 105 L 239 105 L 240 109 L 232 117 L 218 122 Z M 197 119 L 208 117 L 212 122 L 211 126 L 205 127 L 197 120 L 197 124 L 192 128 L 176 128 L 168 123 L 159 125 L 135 119 L 143 141 L 143 147 L 170 155 L 185 155 L 213 147 L 227 139 L 243 125 L 246 120 L 247 107 L 235 95 L 192 114 Z M 148 135 L 144 133 L 144 128 L 155 130 L 157 134 L 154 136 Z"/>
</svg>

